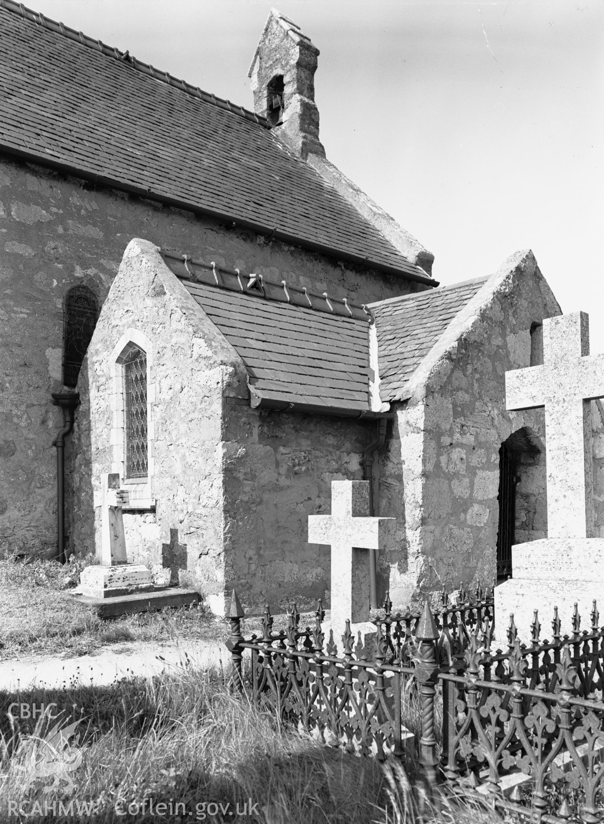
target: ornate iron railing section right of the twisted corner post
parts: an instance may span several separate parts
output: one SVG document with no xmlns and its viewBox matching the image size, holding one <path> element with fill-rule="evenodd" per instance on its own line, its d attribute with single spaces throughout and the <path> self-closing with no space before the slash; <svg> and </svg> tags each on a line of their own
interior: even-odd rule
<svg viewBox="0 0 604 824">
<path fill-rule="evenodd" d="M 604 630 L 598 635 L 602 641 Z M 440 667 L 437 675 L 444 777 L 494 798 L 507 788 L 508 800 L 499 802 L 524 814 L 600 821 L 604 703 L 588 695 L 601 681 L 594 675 L 602 672 L 602 644 L 594 648 L 583 657 L 583 644 L 572 637 L 541 649 L 522 647 L 516 637 L 507 654 L 495 656 L 493 670 L 479 632 L 466 648 L 457 644 L 449 671 Z M 553 658 L 551 666 L 529 668 L 527 658 L 540 656 Z"/>
</svg>

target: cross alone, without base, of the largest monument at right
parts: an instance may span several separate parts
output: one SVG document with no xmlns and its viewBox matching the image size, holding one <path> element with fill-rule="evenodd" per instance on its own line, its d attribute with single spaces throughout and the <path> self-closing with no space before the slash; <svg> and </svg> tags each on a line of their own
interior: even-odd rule
<svg viewBox="0 0 604 824">
<path fill-rule="evenodd" d="M 585 312 L 543 321 L 543 365 L 505 373 L 508 410 L 545 406 L 547 534 L 594 535 L 589 400 L 604 397 L 604 354 L 589 354 Z"/>
</svg>

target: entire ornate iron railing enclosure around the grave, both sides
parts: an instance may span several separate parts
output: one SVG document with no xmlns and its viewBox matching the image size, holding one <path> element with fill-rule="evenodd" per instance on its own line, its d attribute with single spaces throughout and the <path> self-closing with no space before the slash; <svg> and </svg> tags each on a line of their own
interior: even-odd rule
<svg viewBox="0 0 604 824">
<path fill-rule="evenodd" d="M 561 637 L 555 611 L 552 640 L 543 643 L 535 613 L 528 646 L 512 618 L 508 648 L 495 653 L 492 592 L 454 607 L 443 602 L 436 616 L 428 603 L 421 616 L 394 616 L 386 597 L 373 642 L 359 636 L 355 644 L 347 621 L 339 655 L 333 631 L 325 643 L 321 603 L 313 627 L 299 627 L 293 606 L 288 629 L 276 633 L 267 607 L 262 637 L 246 640 L 233 592 L 227 645 L 235 685 L 243 688 L 249 649 L 260 705 L 325 743 L 380 759 L 410 751 L 404 710 L 412 694 L 429 785 L 460 785 L 544 822 L 604 820 L 604 627 L 595 602 L 590 630 L 580 631 L 575 606 L 573 633 Z"/>
</svg>

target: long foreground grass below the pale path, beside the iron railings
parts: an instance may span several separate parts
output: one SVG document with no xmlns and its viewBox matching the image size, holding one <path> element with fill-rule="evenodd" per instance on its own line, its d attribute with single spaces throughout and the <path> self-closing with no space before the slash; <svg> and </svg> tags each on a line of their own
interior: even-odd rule
<svg viewBox="0 0 604 824">
<path fill-rule="evenodd" d="M 82 719 L 77 743 L 82 763 L 73 772 L 77 785 L 73 799 L 80 805 L 80 818 L 91 822 L 488 824 L 501 820 L 475 802 L 428 801 L 424 786 L 414 779 L 413 764 L 406 769 L 395 761 L 380 765 L 283 728 L 246 694 L 232 695 L 215 671 L 189 668 L 178 676 L 124 680 L 106 688 L 73 684 L 65 691 L 29 691 L 6 700 L 37 706 L 55 703 L 54 712 L 60 717 Z M 33 784 L 24 794 L 22 779 L 28 766 L 24 742 L 32 733 L 44 735 L 46 727 L 40 722 L 37 726 L 36 730 L 30 719 L 11 723 L 6 714 L 0 719 L 0 821 L 9 820 L 20 805 L 25 821 L 26 814 L 52 811 L 54 804 L 56 814 L 49 812 L 48 817 L 35 820 L 73 822 L 69 814 L 60 814 L 59 801 L 63 809 L 67 804 L 63 791 L 44 792 L 50 779 Z M 165 815 L 148 813 L 150 799 L 156 808 L 160 803 L 168 805 Z M 237 804 L 240 811 L 246 804 L 249 812 L 250 802 L 251 816 L 228 815 Z M 82 808 L 84 803 L 89 806 Z M 178 808 L 179 815 L 176 804 L 184 805 Z M 129 805 L 133 814 L 122 815 Z"/>
</svg>

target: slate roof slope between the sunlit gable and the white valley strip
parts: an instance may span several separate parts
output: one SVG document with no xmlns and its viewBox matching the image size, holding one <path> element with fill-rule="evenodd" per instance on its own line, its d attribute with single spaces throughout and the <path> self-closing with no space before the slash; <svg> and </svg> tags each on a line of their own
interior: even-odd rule
<svg viewBox="0 0 604 824">
<path fill-rule="evenodd" d="M 370 412 L 368 321 L 183 284 L 245 363 L 252 406 Z"/>
</svg>

